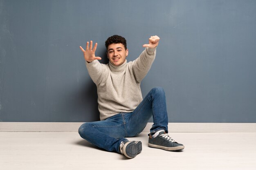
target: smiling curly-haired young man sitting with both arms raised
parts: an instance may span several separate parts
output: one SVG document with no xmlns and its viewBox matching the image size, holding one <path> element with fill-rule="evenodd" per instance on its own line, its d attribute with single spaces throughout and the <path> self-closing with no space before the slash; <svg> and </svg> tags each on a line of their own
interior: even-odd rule
<svg viewBox="0 0 256 170">
<path fill-rule="evenodd" d="M 159 40 L 158 36 L 151 36 L 139 57 L 127 62 L 125 38 L 113 35 L 105 42 L 108 64 L 101 64 L 98 61 L 101 57 L 95 56 L 97 43 L 92 48 L 92 41 L 90 46 L 87 42 L 85 50 L 80 46 L 88 73 L 97 86 L 101 119 L 81 125 L 79 134 L 83 139 L 99 148 L 134 158 L 142 150 L 141 141 L 128 141 L 125 137 L 138 135 L 153 116 L 148 146 L 172 151 L 184 149 L 168 135 L 163 88 L 153 88 L 142 100 L 140 83 L 155 60 Z"/>
</svg>

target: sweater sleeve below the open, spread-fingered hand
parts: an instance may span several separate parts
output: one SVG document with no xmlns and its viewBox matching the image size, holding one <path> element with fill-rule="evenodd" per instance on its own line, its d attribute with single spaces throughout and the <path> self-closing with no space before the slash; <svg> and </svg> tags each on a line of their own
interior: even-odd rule
<svg viewBox="0 0 256 170">
<path fill-rule="evenodd" d="M 108 76 L 108 68 L 105 66 L 106 64 L 101 64 L 98 60 L 94 60 L 90 63 L 85 62 L 86 68 L 92 81 L 98 85 L 101 82 L 105 81 Z"/>
</svg>

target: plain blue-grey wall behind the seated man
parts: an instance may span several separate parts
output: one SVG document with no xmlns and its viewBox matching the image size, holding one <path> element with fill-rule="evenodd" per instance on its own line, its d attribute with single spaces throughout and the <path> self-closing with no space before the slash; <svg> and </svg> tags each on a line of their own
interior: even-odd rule
<svg viewBox="0 0 256 170">
<path fill-rule="evenodd" d="M 255 0 L 0 0 L 0 121 L 99 119 L 79 46 L 126 38 L 128 61 L 161 40 L 141 84 L 169 122 L 256 122 Z M 152 119 L 151 119 L 152 121 Z"/>
</svg>

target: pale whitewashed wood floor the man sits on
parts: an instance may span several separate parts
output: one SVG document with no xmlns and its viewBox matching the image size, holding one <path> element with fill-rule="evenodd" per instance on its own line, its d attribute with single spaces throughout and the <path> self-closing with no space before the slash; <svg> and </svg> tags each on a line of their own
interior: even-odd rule
<svg viewBox="0 0 256 170">
<path fill-rule="evenodd" d="M 0 132 L 0 170 L 256 170 L 256 133 L 169 133 L 181 152 L 147 146 L 134 159 L 98 149 L 77 132 Z"/>
</svg>

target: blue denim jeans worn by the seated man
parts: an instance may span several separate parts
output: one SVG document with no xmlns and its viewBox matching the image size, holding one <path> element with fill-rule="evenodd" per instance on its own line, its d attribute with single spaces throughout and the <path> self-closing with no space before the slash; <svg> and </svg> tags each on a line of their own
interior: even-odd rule
<svg viewBox="0 0 256 170">
<path fill-rule="evenodd" d="M 118 113 L 103 121 L 84 123 L 79 128 L 79 135 L 91 144 L 110 152 L 119 152 L 125 137 L 134 137 L 145 128 L 150 117 L 154 124 L 150 133 L 164 130 L 168 133 L 168 116 L 164 89 L 153 88 L 137 108 L 130 113 Z"/>
</svg>

